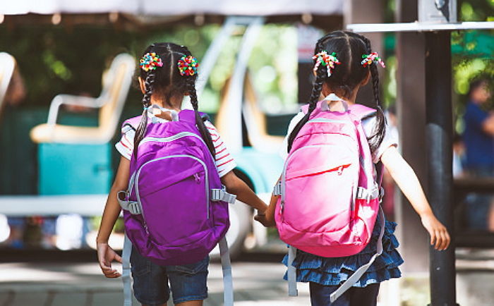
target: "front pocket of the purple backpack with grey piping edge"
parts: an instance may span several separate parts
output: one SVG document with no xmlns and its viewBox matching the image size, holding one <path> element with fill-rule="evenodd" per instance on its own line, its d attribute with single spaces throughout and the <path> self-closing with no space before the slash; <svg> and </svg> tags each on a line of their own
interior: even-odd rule
<svg viewBox="0 0 494 306">
<path fill-rule="evenodd" d="M 210 228 L 207 166 L 197 157 L 147 161 L 136 175 L 135 195 L 150 238 L 159 245 L 193 243 Z"/>
</svg>

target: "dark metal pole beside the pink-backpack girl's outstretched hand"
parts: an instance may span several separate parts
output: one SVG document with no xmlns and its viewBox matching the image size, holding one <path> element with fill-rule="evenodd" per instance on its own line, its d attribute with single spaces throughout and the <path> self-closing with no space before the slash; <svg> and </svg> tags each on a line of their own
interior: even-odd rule
<svg viewBox="0 0 494 306">
<path fill-rule="evenodd" d="M 426 137 L 428 198 L 453 238 L 452 100 L 450 32 L 426 33 Z M 430 247 L 430 305 L 454 306 L 454 240 L 445 251 Z"/>
</svg>

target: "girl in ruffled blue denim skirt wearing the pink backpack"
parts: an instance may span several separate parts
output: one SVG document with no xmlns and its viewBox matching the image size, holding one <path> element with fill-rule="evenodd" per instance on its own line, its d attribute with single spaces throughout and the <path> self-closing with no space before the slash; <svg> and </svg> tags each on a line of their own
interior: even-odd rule
<svg viewBox="0 0 494 306">
<path fill-rule="evenodd" d="M 289 295 L 296 281 L 308 282 L 314 306 L 374 306 L 379 284 L 401 276 L 394 222 L 380 209 L 381 165 L 407 197 L 430 244 L 445 250 L 450 235 L 435 218 L 414 170 L 387 133 L 378 99 L 383 61 L 370 41 L 354 32 L 320 38 L 314 51 L 311 99 L 289 124 L 286 159 L 265 216 L 289 244 L 283 262 Z M 355 104 L 372 79 L 376 109 Z M 288 152 L 288 155 L 287 155 Z"/>
</svg>

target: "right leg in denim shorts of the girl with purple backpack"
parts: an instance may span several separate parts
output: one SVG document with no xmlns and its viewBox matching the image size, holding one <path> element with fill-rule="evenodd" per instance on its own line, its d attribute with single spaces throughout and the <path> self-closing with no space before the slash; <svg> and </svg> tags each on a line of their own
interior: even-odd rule
<svg viewBox="0 0 494 306">
<path fill-rule="evenodd" d="M 201 306 L 207 298 L 207 267 L 209 257 L 194 264 L 167 266 L 171 295 L 175 305 Z"/>
</svg>

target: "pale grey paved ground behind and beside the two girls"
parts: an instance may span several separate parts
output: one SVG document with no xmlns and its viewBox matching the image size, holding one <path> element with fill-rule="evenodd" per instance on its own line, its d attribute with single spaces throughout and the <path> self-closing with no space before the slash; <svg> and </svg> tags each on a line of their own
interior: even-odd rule
<svg viewBox="0 0 494 306">
<path fill-rule="evenodd" d="M 284 266 L 272 258 L 268 261 L 234 262 L 235 305 L 310 305 L 308 286 L 299 283 L 300 296 L 289 298 L 287 284 L 281 280 Z M 457 271 L 459 305 L 494 305 L 494 257 L 459 257 Z M 427 274 L 423 274 L 382 283 L 378 305 L 427 305 L 427 281 Z M 222 305 L 219 264 L 210 265 L 208 288 L 210 297 L 205 305 Z M 0 263 L 0 306 L 31 305 L 121 306 L 121 280 L 105 279 L 96 262 Z"/>
</svg>

